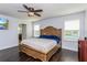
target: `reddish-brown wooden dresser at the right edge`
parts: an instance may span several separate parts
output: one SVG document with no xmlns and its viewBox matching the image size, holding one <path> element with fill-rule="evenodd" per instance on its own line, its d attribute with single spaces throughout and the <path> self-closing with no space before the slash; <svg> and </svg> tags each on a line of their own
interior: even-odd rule
<svg viewBox="0 0 87 65">
<path fill-rule="evenodd" d="M 87 40 L 78 41 L 78 59 L 79 62 L 87 62 Z"/>
</svg>

